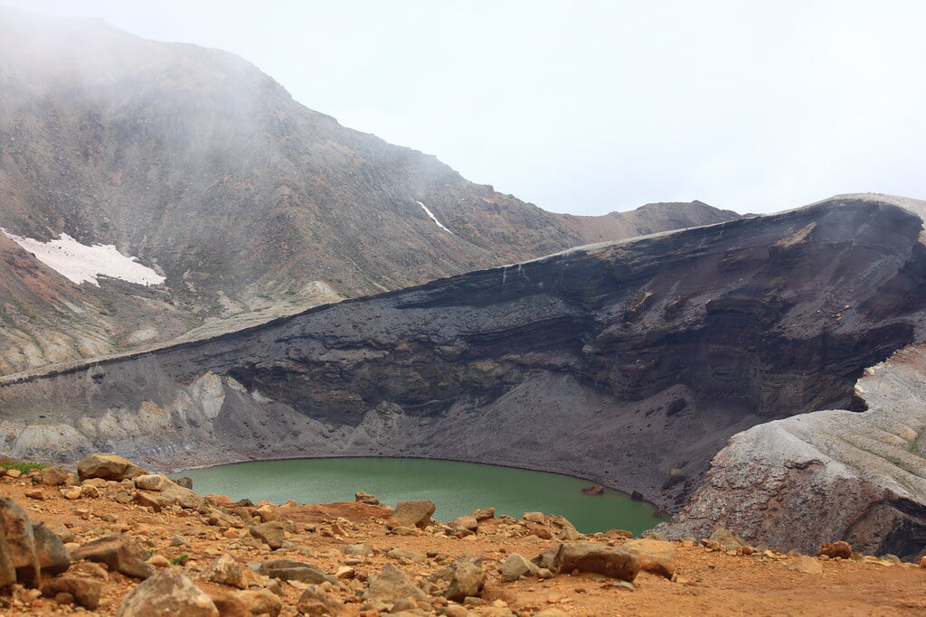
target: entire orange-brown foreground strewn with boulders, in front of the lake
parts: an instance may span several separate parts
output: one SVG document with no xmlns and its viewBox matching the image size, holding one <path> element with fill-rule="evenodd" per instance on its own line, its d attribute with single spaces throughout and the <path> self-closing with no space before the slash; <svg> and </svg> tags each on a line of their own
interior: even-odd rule
<svg viewBox="0 0 926 617">
<path fill-rule="evenodd" d="M 182 482 L 181 482 L 182 483 Z M 6 614 L 922 614 L 926 569 L 824 545 L 582 535 L 562 517 L 448 524 L 430 501 L 202 497 L 112 455 L 0 479 Z M 834 538 L 835 539 L 835 538 Z"/>
</svg>

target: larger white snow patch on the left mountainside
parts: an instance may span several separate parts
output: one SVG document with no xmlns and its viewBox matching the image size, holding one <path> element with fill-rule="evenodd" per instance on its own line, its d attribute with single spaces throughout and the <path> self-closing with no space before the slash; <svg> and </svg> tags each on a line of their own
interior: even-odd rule
<svg viewBox="0 0 926 617">
<path fill-rule="evenodd" d="M 160 285 L 165 278 L 153 269 L 138 263 L 137 257 L 119 253 L 113 244 L 86 246 L 63 233 L 58 240 L 39 241 L 23 238 L 0 228 L 6 237 L 16 242 L 36 259 L 58 274 L 80 285 L 86 281 L 100 286 L 96 277 L 120 278 L 138 285 Z"/>
</svg>

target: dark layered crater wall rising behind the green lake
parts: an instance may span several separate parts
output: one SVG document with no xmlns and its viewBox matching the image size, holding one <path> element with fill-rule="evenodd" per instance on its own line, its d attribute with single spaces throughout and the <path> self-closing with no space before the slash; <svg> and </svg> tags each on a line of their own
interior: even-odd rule
<svg viewBox="0 0 926 617">
<path fill-rule="evenodd" d="M 921 228 L 891 198 L 843 196 L 7 378 L 3 453 L 444 457 L 674 510 L 732 434 L 851 408 L 865 367 L 924 339 Z"/>
</svg>

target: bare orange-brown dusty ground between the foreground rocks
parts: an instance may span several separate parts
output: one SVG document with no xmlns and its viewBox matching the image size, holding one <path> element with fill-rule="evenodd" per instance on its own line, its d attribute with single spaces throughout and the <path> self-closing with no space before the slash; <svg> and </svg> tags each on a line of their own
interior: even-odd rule
<svg viewBox="0 0 926 617">
<path fill-rule="evenodd" d="M 34 520 L 48 526 L 63 524 L 82 543 L 108 535 L 127 533 L 136 537 L 147 549 L 168 559 L 187 553 L 184 568 L 194 576 L 221 553 L 232 555 L 242 563 L 290 558 L 313 563 L 319 570 L 334 574 L 344 564 L 353 565 L 358 578 L 375 574 L 382 565 L 392 561 L 410 576 L 426 578 L 443 567 L 445 556 L 454 558 L 472 551 L 485 559 L 489 580 L 483 592 L 486 604 L 469 607 L 473 614 L 493 614 L 507 606 L 519 615 L 532 615 L 548 608 L 557 608 L 571 615 L 882 615 L 926 613 L 926 569 L 913 564 L 888 564 L 883 561 L 821 561 L 822 574 L 802 574 L 785 569 L 788 556 L 761 553 L 759 556 L 730 555 L 711 551 L 696 542 L 676 542 L 677 582 L 641 573 L 635 591 L 612 586 L 614 581 L 597 574 L 559 575 L 549 580 L 525 579 L 502 583 L 495 566 L 508 553 L 517 552 L 531 559 L 544 549 L 557 546 L 556 540 L 539 537 L 508 537 L 519 523 L 497 519 L 482 522 L 475 536 L 387 535 L 382 518 L 387 509 L 359 503 L 336 503 L 323 506 L 284 507 L 284 517 L 294 521 L 300 531 L 290 537 L 289 549 L 269 550 L 250 546 L 250 538 L 237 536 L 241 530 L 210 526 L 205 517 L 194 512 L 148 512 L 141 506 L 121 504 L 103 491 L 99 498 L 64 499 L 57 488 L 43 487 L 45 500 L 25 497 L 33 489 L 31 483 L 5 477 L 0 480 L 0 494 L 23 505 Z M 338 522 L 338 519 L 341 519 Z M 107 522 L 106 519 L 110 521 Z M 349 523 L 348 523 L 349 522 Z M 246 530 L 244 530 L 246 531 Z M 343 532 L 339 534 L 338 532 Z M 171 546 L 175 535 L 190 543 L 189 547 Z M 589 539 L 618 543 L 602 536 Z M 344 555 L 344 544 L 364 543 L 376 552 L 372 557 Z M 384 552 L 395 547 L 426 553 L 442 554 L 424 563 L 398 563 Z M 770 556 L 767 556 L 770 555 Z M 138 581 L 118 573 L 109 573 L 104 584 L 104 598 L 93 614 L 114 614 L 119 600 Z M 197 581 L 204 590 L 226 589 L 205 581 Z M 282 615 L 295 614 L 296 599 L 302 589 L 283 583 Z M 359 581 L 353 585 L 360 590 Z M 348 602 L 350 611 L 359 613 L 361 602 L 353 591 L 336 594 Z M 17 602 L 8 591 L 4 603 Z M 504 604 L 503 604 L 504 603 Z M 430 608 L 430 607 L 429 607 Z M 8 606 L 3 614 L 65 614 L 71 606 L 58 606 L 52 599 L 37 598 Z"/>
</svg>

